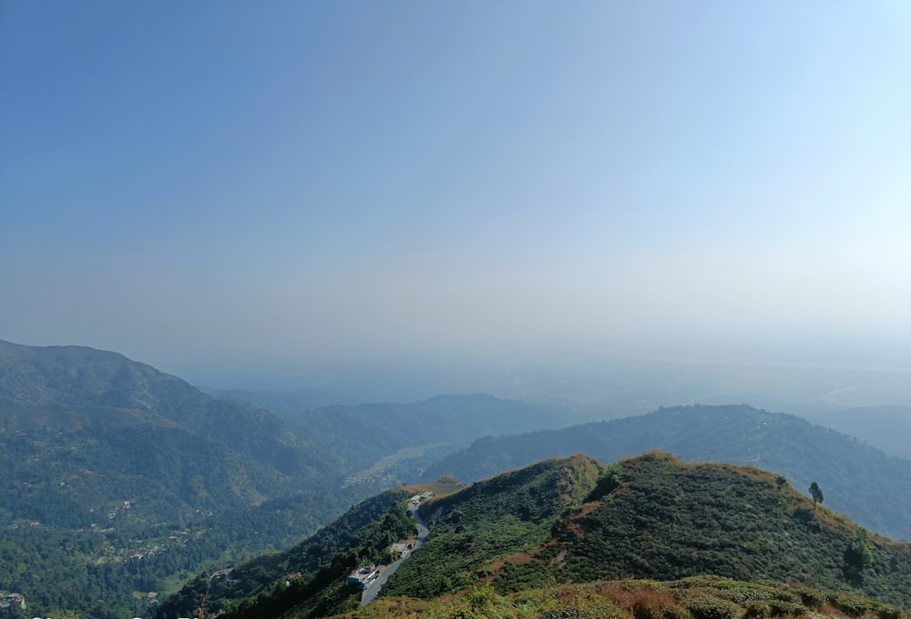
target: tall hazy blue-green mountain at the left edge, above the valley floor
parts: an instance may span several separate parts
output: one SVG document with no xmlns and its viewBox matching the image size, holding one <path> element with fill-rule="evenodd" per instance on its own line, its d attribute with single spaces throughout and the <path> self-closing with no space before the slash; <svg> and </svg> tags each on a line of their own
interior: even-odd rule
<svg viewBox="0 0 911 619">
<path fill-rule="evenodd" d="M 14 520 L 85 527 L 130 500 L 133 519 L 177 522 L 343 477 L 342 459 L 268 410 L 81 346 L 0 343 L 0 428 Z"/>
</svg>

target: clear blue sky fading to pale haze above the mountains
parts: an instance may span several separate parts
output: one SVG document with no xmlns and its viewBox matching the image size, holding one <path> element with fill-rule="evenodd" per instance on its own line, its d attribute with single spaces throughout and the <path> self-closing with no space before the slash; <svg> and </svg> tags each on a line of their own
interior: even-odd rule
<svg viewBox="0 0 911 619">
<path fill-rule="evenodd" d="M 0 338 L 911 364 L 911 4 L 0 0 Z"/>
</svg>

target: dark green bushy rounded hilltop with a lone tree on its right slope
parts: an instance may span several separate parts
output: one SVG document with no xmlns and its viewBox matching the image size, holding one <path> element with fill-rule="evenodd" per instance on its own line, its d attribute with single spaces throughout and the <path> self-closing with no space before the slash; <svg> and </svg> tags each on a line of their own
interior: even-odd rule
<svg viewBox="0 0 911 619">
<path fill-rule="evenodd" d="M 703 573 L 798 580 L 911 604 L 911 546 L 871 536 L 831 511 L 814 513 L 771 474 L 662 454 L 615 470 L 619 486 L 561 519 L 556 543 L 529 567 L 552 565 L 560 582 Z"/>
</svg>

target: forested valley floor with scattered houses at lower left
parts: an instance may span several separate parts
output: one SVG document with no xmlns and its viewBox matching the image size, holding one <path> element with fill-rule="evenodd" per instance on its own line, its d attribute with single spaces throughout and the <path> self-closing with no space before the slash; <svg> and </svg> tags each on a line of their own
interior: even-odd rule
<svg viewBox="0 0 911 619">
<path fill-rule="evenodd" d="M 0 582 L 26 595 L 29 612 L 50 609 L 37 613 L 45 616 L 86 609 L 97 617 L 148 616 L 155 610 L 148 592 L 163 599 L 200 570 L 296 542 L 343 511 L 346 500 L 337 492 L 302 493 L 184 526 L 131 526 L 107 514 L 105 528 L 81 531 L 15 521 L 0 535 Z"/>
</svg>

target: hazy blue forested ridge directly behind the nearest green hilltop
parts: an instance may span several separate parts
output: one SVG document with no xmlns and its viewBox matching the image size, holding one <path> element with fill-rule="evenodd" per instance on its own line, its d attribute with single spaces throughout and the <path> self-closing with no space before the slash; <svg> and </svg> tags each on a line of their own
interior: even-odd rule
<svg viewBox="0 0 911 619">
<path fill-rule="evenodd" d="M 427 469 L 425 479 L 479 480 L 545 458 L 582 452 L 612 462 L 649 449 L 770 470 L 799 490 L 817 481 L 827 506 L 872 531 L 911 540 L 911 460 L 888 457 L 793 415 L 745 405 L 660 408 L 638 417 L 480 438 Z"/>
</svg>

